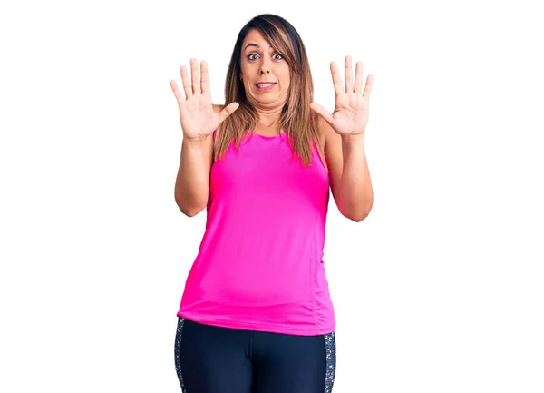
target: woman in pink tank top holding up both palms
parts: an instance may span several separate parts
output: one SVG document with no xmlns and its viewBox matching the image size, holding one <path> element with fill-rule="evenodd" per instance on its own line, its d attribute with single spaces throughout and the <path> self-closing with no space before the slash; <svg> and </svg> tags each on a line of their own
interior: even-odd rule
<svg viewBox="0 0 544 393">
<path fill-rule="evenodd" d="M 185 98 L 175 198 L 206 231 L 178 312 L 175 360 L 188 393 L 322 393 L 335 378 L 335 315 L 323 247 L 329 187 L 345 217 L 373 204 L 364 155 L 372 77 L 335 63 L 335 112 L 312 103 L 305 46 L 277 15 L 238 34 L 226 106 L 208 66 L 180 68 Z M 317 113 L 316 116 L 314 113 Z"/>
</svg>

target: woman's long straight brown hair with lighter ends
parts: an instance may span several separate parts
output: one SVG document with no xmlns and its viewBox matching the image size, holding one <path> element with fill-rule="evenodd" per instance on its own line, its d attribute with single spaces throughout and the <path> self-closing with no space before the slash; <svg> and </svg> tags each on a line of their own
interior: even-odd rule
<svg viewBox="0 0 544 393">
<path fill-rule="evenodd" d="M 280 123 L 287 133 L 293 150 L 307 166 L 312 162 L 312 141 L 320 146 L 316 117 L 312 115 L 310 103 L 314 98 L 314 87 L 306 48 L 295 27 L 284 18 L 263 14 L 251 19 L 240 30 L 228 64 L 225 82 L 225 102 L 239 103 L 238 109 L 220 124 L 220 132 L 215 141 L 214 160 L 222 158 L 230 143 L 236 141 L 236 148 L 248 137 L 248 130 L 257 126 L 258 116 L 254 106 L 249 103 L 244 84 L 238 75 L 241 71 L 242 43 L 251 29 L 263 35 L 267 43 L 284 56 L 289 66 L 290 86 L 287 102 L 282 108 Z M 321 156 L 321 149 L 318 149 Z M 325 157 L 322 157 L 325 162 Z"/>
</svg>

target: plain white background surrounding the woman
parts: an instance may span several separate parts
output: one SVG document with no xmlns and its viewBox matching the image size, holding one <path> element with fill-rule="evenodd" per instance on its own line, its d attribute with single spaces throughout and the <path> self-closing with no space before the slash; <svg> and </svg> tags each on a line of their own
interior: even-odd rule
<svg viewBox="0 0 544 393">
<path fill-rule="evenodd" d="M 169 83 L 207 60 L 223 103 L 238 31 L 274 13 L 317 103 L 333 109 L 333 60 L 374 75 L 374 209 L 355 223 L 331 199 L 326 227 L 334 393 L 543 392 L 544 28 L 513 3 L 3 4 L 0 390 L 180 391 L 205 211 L 174 201 Z"/>
</svg>

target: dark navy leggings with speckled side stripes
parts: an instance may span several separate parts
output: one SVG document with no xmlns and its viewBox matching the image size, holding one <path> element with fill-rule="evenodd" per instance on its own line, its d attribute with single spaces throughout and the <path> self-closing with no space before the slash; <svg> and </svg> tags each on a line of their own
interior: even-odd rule
<svg viewBox="0 0 544 393">
<path fill-rule="evenodd" d="M 335 333 L 292 336 L 219 328 L 178 317 L 182 393 L 331 393 Z"/>
</svg>

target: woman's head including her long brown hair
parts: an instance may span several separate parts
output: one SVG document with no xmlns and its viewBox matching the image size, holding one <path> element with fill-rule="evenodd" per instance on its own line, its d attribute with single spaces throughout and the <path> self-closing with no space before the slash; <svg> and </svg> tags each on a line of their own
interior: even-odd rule
<svg viewBox="0 0 544 393">
<path fill-rule="evenodd" d="M 261 82 L 274 86 L 267 90 L 258 85 Z M 279 108 L 281 129 L 294 153 L 309 164 L 312 140 L 319 145 L 310 109 L 313 95 L 306 48 L 295 27 L 277 15 L 255 16 L 240 30 L 230 57 L 225 100 L 240 106 L 221 123 L 214 159 L 223 156 L 233 139 L 238 147 L 257 126 L 259 109 Z"/>
</svg>

